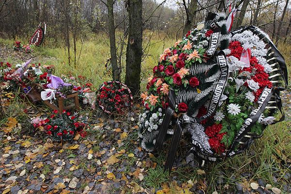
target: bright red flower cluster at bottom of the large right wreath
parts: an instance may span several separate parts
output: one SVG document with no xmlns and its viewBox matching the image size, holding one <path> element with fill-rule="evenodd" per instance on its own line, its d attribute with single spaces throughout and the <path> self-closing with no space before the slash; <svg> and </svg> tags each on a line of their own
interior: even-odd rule
<svg viewBox="0 0 291 194">
<path fill-rule="evenodd" d="M 206 128 L 205 133 L 210 138 L 209 145 L 216 153 L 223 153 L 225 151 L 224 143 L 221 140 L 225 133 L 219 133 L 222 129 L 222 124 L 213 124 Z"/>
</svg>

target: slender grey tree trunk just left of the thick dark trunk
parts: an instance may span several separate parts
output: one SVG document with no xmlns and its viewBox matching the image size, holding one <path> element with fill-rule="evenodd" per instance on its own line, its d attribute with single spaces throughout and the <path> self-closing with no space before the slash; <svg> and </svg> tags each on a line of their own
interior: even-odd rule
<svg viewBox="0 0 291 194">
<path fill-rule="evenodd" d="M 115 26 L 114 26 L 114 13 L 113 13 L 113 4 L 115 0 L 107 0 L 107 9 L 108 9 L 108 31 L 110 39 L 110 55 L 111 55 L 111 65 L 112 65 L 112 74 L 113 80 L 120 81 L 120 73 L 117 65 L 117 56 L 116 56 L 116 41 L 115 41 Z"/>
</svg>

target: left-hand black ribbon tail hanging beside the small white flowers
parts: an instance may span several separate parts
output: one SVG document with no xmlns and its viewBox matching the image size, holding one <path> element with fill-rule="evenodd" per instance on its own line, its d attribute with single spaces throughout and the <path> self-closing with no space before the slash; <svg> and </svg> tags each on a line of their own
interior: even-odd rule
<svg viewBox="0 0 291 194">
<path fill-rule="evenodd" d="M 170 125 L 171 118 L 172 118 L 173 114 L 175 113 L 175 106 L 176 106 L 175 99 L 176 99 L 175 91 L 173 89 L 170 89 L 169 95 L 168 95 L 169 106 L 166 109 L 165 117 L 162 120 L 162 127 L 159 130 L 158 138 L 156 140 L 156 144 L 155 144 L 155 148 L 154 148 L 155 151 L 160 152 L 162 149 L 162 144 L 165 141 L 165 137 L 166 137 L 169 125 Z"/>
</svg>

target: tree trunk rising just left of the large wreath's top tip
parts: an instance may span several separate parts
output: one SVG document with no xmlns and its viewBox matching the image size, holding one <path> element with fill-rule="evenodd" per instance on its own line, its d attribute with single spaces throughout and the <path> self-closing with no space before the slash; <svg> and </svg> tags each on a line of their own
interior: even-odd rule
<svg viewBox="0 0 291 194">
<path fill-rule="evenodd" d="M 190 4 L 188 4 L 188 8 L 186 6 L 185 0 L 183 0 L 183 3 L 184 3 L 185 11 L 186 11 L 186 16 L 187 16 L 186 18 L 187 20 L 183 29 L 183 35 L 185 35 L 188 31 L 190 31 L 193 28 L 193 22 L 197 13 L 198 6 L 197 6 L 197 0 L 191 0 Z"/>
</svg>

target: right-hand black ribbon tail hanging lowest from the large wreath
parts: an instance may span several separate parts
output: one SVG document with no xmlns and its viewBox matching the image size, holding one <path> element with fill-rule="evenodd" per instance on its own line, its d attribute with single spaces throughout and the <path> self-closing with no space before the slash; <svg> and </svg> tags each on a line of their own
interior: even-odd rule
<svg viewBox="0 0 291 194">
<path fill-rule="evenodd" d="M 172 167 L 173 167 L 173 163 L 174 163 L 174 159 L 175 159 L 175 155 L 176 155 L 176 152 L 177 152 L 177 148 L 178 148 L 178 145 L 179 145 L 179 142 L 180 142 L 180 139 L 181 139 L 181 135 L 182 135 L 182 123 L 180 121 L 180 119 L 178 119 L 177 121 L 177 125 L 176 125 L 176 129 L 175 129 L 175 132 L 174 132 L 174 137 L 172 139 L 172 142 L 171 142 L 171 146 L 170 146 L 170 152 L 168 154 L 168 157 L 167 157 L 167 160 L 166 160 L 166 163 L 165 163 L 165 169 L 164 171 L 169 171 L 169 173 L 171 173 L 171 170 L 172 170 Z"/>
</svg>

